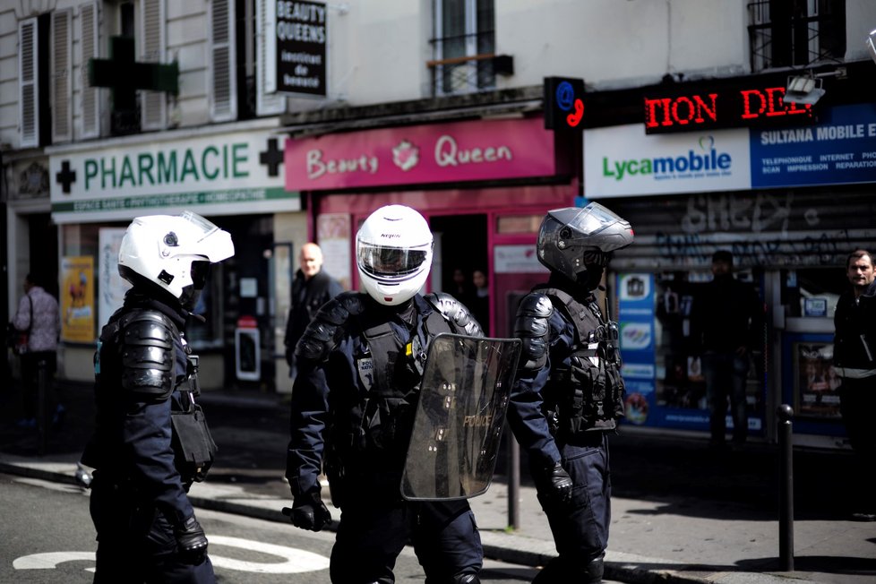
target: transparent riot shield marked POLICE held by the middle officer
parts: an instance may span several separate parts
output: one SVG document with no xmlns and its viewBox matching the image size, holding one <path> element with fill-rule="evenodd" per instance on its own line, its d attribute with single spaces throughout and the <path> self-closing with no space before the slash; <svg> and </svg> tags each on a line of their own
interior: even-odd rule
<svg viewBox="0 0 876 584">
<path fill-rule="evenodd" d="M 442 333 L 429 345 L 401 495 L 408 501 L 485 493 L 502 438 L 520 339 Z"/>
</svg>

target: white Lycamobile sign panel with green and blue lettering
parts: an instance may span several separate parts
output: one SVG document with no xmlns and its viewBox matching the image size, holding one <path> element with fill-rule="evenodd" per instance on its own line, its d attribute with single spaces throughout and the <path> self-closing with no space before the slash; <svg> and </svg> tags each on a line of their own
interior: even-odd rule
<svg viewBox="0 0 876 584">
<path fill-rule="evenodd" d="M 588 197 L 748 188 L 748 133 L 643 135 L 640 125 L 584 132 Z"/>
</svg>

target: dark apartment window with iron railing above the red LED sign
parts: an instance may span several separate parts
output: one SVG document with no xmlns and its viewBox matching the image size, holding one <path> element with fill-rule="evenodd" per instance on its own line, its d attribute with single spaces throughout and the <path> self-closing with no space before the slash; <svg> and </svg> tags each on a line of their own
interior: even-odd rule
<svg viewBox="0 0 876 584">
<path fill-rule="evenodd" d="M 756 0 L 748 12 L 753 72 L 846 55 L 845 0 Z"/>
</svg>

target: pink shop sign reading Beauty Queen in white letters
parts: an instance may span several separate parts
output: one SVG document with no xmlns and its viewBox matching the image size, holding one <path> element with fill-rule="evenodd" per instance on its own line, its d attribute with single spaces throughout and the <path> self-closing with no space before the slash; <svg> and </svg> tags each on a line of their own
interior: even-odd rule
<svg viewBox="0 0 876 584">
<path fill-rule="evenodd" d="M 288 138 L 287 191 L 552 176 L 541 118 L 478 120 Z"/>
</svg>

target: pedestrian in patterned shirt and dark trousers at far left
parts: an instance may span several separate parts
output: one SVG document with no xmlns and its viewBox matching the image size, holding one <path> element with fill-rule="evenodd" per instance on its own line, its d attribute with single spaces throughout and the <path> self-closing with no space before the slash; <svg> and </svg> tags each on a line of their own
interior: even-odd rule
<svg viewBox="0 0 876 584">
<path fill-rule="evenodd" d="M 44 276 L 36 272 L 24 278 L 24 296 L 18 302 L 18 310 L 13 318 L 16 331 L 27 334 L 27 343 L 21 349 L 21 385 L 23 417 L 18 424 L 24 427 L 37 425 L 37 416 L 45 417 L 47 412 L 37 412 L 40 371 L 45 372 L 47 392 L 53 386 L 52 379 L 57 368 L 58 339 L 61 336 L 61 318 L 58 301 L 46 291 Z M 64 419 L 64 404 L 60 396 L 53 422 L 60 425 Z"/>
</svg>

